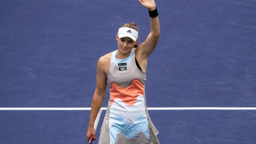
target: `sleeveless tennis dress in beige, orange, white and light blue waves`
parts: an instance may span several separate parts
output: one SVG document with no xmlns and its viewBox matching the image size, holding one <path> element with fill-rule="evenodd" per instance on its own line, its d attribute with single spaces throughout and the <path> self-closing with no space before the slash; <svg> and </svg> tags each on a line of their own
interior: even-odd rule
<svg viewBox="0 0 256 144">
<path fill-rule="evenodd" d="M 110 99 L 99 144 L 159 144 L 159 132 L 147 112 L 146 72 L 136 66 L 134 49 L 125 59 L 117 59 L 116 52 L 107 73 Z"/>
</svg>

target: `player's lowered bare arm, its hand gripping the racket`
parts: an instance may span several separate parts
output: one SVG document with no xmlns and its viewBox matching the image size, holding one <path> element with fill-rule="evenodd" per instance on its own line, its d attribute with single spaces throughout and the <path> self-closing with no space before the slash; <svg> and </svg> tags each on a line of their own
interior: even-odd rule
<svg viewBox="0 0 256 144">
<path fill-rule="evenodd" d="M 105 66 L 104 59 L 101 57 L 99 58 L 97 63 L 96 89 L 93 95 L 90 121 L 89 121 L 89 126 L 86 134 L 87 142 L 89 141 L 89 138 L 91 136 L 93 136 L 93 139 L 95 140 L 96 131 L 94 129 L 94 122 L 105 98 L 107 77 L 104 72 L 104 66 Z"/>
</svg>

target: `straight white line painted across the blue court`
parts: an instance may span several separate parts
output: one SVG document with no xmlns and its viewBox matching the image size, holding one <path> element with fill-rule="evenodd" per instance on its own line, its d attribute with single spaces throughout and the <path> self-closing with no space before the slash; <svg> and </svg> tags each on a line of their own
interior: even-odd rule
<svg viewBox="0 0 256 144">
<path fill-rule="evenodd" d="M 102 107 L 106 110 L 106 107 Z M 148 110 L 256 110 L 256 107 L 148 107 Z M 0 107 L 0 110 L 14 110 L 14 111 L 30 111 L 30 110 L 50 110 L 50 111 L 67 111 L 67 110 L 91 110 L 90 107 Z"/>
</svg>

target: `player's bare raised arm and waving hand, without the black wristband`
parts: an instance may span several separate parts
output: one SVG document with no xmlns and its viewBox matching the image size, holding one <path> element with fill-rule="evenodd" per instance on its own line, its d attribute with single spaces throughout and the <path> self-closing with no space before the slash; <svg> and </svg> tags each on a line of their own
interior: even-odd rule
<svg viewBox="0 0 256 144">
<path fill-rule="evenodd" d="M 140 4 L 149 9 L 149 11 L 153 11 L 156 9 L 156 4 L 154 0 L 138 0 Z M 159 36 L 160 36 L 160 24 L 159 19 L 157 17 L 150 17 L 150 30 L 151 32 L 147 36 L 145 42 L 141 43 L 138 46 L 138 52 L 142 56 L 143 59 L 147 59 L 147 57 L 153 52 L 155 49 Z"/>
</svg>

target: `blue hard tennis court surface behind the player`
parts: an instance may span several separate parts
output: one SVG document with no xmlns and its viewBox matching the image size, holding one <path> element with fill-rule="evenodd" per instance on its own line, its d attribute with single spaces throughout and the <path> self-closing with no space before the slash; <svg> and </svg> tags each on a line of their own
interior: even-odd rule
<svg viewBox="0 0 256 144">
<path fill-rule="evenodd" d="M 147 63 L 161 144 L 256 144 L 256 1 L 156 0 L 161 35 Z M 123 23 L 150 32 L 136 0 L 0 1 L 0 107 L 90 108 L 100 56 Z M 109 100 L 107 86 L 102 107 Z M 94 142 L 98 143 L 101 114 Z M 89 110 L 0 110 L 1 144 L 84 144 Z"/>
</svg>

